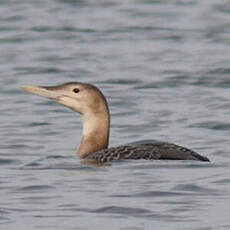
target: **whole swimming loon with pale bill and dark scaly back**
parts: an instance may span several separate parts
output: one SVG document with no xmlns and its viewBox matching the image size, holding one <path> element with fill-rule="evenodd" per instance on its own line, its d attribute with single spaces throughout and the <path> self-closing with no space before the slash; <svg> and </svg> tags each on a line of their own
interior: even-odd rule
<svg viewBox="0 0 230 230">
<path fill-rule="evenodd" d="M 77 155 L 85 162 L 104 164 L 124 159 L 210 161 L 186 147 L 157 140 L 108 147 L 108 103 L 99 88 L 92 84 L 68 82 L 56 86 L 23 85 L 21 89 L 56 101 L 81 115 L 83 130 Z"/>
</svg>

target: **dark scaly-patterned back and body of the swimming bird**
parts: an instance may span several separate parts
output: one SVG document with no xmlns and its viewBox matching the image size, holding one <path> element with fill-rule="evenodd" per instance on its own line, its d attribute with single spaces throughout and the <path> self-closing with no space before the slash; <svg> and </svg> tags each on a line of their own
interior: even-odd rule
<svg viewBox="0 0 230 230">
<path fill-rule="evenodd" d="M 203 157 L 185 147 L 158 141 L 111 147 L 92 153 L 86 157 L 86 159 L 98 163 L 106 163 L 121 159 L 209 161 L 207 157 Z"/>
</svg>

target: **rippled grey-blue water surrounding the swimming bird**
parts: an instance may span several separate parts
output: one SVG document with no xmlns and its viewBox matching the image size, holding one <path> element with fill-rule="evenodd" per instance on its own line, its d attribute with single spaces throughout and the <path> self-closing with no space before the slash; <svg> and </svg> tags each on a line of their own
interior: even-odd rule
<svg viewBox="0 0 230 230">
<path fill-rule="evenodd" d="M 230 228 L 228 1 L 1 1 L 0 20 L 0 229 Z M 80 116 L 19 89 L 68 81 L 104 92 L 112 146 L 211 163 L 81 164 Z"/>
</svg>

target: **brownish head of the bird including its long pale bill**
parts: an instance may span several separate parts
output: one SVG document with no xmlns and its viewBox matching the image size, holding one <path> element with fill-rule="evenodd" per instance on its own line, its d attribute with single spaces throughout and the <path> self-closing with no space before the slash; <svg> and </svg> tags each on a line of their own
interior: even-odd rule
<svg viewBox="0 0 230 230">
<path fill-rule="evenodd" d="M 23 85 L 21 88 L 29 93 L 57 101 L 83 116 L 88 113 L 96 115 L 103 113 L 105 109 L 108 110 L 104 95 L 90 84 L 69 82 L 57 86 Z"/>
</svg>

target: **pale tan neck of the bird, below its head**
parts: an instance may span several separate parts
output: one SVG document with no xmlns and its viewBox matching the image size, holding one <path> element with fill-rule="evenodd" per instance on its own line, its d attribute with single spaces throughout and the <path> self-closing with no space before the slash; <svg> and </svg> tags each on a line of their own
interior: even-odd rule
<svg viewBox="0 0 230 230">
<path fill-rule="evenodd" d="M 110 116 L 106 108 L 106 112 L 102 114 L 93 116 L 85 114 L 82 118 L 83 136 L 77 154 L 85 158 L 91 153 L 108 147 Z"/>
</svg>

